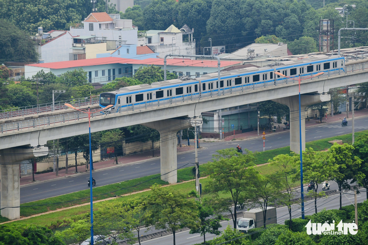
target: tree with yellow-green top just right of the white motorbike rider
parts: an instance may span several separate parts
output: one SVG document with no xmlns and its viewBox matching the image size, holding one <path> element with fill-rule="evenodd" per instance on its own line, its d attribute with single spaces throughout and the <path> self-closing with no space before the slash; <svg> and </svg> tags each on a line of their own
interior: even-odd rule
<svg viewBox="0 0 368 245">
<path fill-rule="evenodd" d="M 350 189 L 348 180 L 361 180 L 363 174 L 359 171 L 361 165 L 361 159 L 357 156 L 353 156 L 354 147 L 349 144 L 333 144 L 328 149 L 329 160 L 333 165 L 337 165 L 338 168 L 331 174 L 331 179 L 334 180 L 340 192 L 340 209 L 342 207 L 342 189 Z M 351 184 L 352 182 L 350 182 Z"/>
</svg>

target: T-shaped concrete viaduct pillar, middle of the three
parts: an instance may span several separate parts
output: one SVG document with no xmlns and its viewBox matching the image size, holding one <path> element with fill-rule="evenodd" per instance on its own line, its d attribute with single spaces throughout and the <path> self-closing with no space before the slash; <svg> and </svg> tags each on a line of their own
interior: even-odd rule
<svg viewBox="0 0 368 245">
<path fill-rule="evenodd" d="M 170 184 L 177 182 L 176 133 L 192 127 L 190 120 L 166 119 L 142 124 L 160 133 L 161 180 Z"/>
</svg>

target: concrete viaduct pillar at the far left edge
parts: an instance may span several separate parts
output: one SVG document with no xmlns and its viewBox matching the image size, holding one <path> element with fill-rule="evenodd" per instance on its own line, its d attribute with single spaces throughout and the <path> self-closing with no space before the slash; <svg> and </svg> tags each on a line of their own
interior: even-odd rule
<svg viewBox="0 0 368 245">
<path fill-rule="evenodd" d="M 0 150 L 0 208 L 8 219 L 20 218 L 19 164 L 21 161 L 48 154 L 47 147 L 17 147 Z M 17 208 L 13 208 L 17 207 Z"/>
</svg>

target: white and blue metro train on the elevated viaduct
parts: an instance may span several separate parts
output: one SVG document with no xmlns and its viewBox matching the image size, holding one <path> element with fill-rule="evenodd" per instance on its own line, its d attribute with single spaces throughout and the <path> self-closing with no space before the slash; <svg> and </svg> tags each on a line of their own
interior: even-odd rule
<svg viewBox="0 0 368 245">
<path fill-rule="evenodd" d="M 319 72 L 344 72 L 345 58 L 326 55 L 306 56 L 302 59 L 279 61 L 275 66 L 246 67 L 231 71 L 221 71 L 220 83 L 218 74 L 209 73 L 189 80 L 172 79 L 159 81 L 151 85 L 142 84 L 120 88 L 119 90 L 100 94 L 100 107 L 118 112 L 137 106 L 151 106 L 175 99 L 201 99 L 206 94 L 225 93 L 232 90 L 246 90 L 260 86 L 277 86 L 286 77 L 275 74 L 280 72 L 286 76 L 311 76 Z"/>
</svg>

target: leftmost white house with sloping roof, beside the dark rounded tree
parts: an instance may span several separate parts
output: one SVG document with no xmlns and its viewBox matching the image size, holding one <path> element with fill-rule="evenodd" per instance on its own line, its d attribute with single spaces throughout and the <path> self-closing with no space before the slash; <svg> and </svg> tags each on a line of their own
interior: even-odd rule
<svg viewBox="0 0 368 245">
<path fill-rule="evenodd" d="M 42 37 L 42 38 L 41 38 Z M 39 62 L 57 62 L 69 60 L 69 52 L 73 43 L 72 35 L 68 31 L 49 31 L 41 33 L 36 41 Z"/>
</svg>

